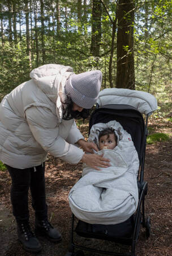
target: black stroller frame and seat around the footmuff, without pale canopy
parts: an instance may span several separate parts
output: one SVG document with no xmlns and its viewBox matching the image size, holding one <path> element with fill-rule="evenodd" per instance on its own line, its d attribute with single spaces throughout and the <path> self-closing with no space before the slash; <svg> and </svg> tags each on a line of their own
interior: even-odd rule
<svg viewBox="0 0 172 256">
<path fill-rule="evenodd" d="M 98 104 L 97 104 L 98 105 Z M 82 256 L 84 255 L 83 251 L 81 250 L 86 250 L 86 251 L 92 251 L 93 253 L 101 253 L 101 254 L 108 254 L 108 255 L 121 255 L 121 256 L 135 256 L 135 248 L 136 248 L 136 242 L 137 242 L 137 238 L 139 236 L 139 232 L 140 232 L 140 224 L 143 225 L 143 227 L 145 228 L 145 233 L 146 233 L 146 238 L 148 239 L 150 236 L 150 231 L 151 231 L 151 219 L 150 217 L 145 217 L 145 196 L 147 195 L 148 192 L 148 183 L 147 181 L 144 181 L 144 162 L 145 162 L 145 148 L 146 148 L 146 140 L 147 140 L 147 135 L 148 135 L 148 114 L 145 115 L 145 119 L 143 119 L 143 115 L 137 111 L 137 109 L 135 109 L 134 107 L 130 106 L 130 105 L 105 105 L 105 106 L 101 106 L 100 108 L 98 108 L 98 106 L 96 106 L 96 110 L 94 110 L 94 112 L 91 114 L 91 119 L 89 122 L 89 131 L 91 129 L 91 126 L 95 123 L 92 123 L 92 119 L 93 119 L 93 115 L 95 115 L 96 112 L 106 112 L 108 109 L 109 113 L 115 112 L 114 115 L 118 115 L 120 116 L 120 111 L 122 110 L 123 113 L 131 113 L 131 116 L 134 114 L 137 117 L 140 118 L 140 120 L 142 120 L 141 122 L 143 122 L 141 125 L 143 126 L 143 132 L 144 132 L 144 136 L 142 139 L 142 145 L 140 146 L 139 150 L 138 148 L 136 148 L 138 155 L 141 157 L 139 157 L 139 161 L 140 161 L 140 170 L 138 171 L 138 176 L 137 176 L 137 186 L 138 186 L 138 191 L 139 191 L 139 203 L 137 205 L 137 210 L 135 212 L 135 224 L 132 228 L 132 236 L 131 239 L 126 240 L 125 242 L 121 242 L 120 240 L 114 238 L 113 240 L 109 239 L 108 237 L 106 238 L 99 238 L 101 240 L 108 240 L 108 241 L 113 241 L 115 243 L 121 243 L 123 245 L 129 245 L 131 246 L 131 252 L 129 253 L 118 253 L 118 252 L 114 252 L 114 251 L 104 251 L 104 250 L 98 250 L 98 249 L 92 249 L 90 247 L 85 247 L 83 245 L 78 245 L 74 242 L 74 220 L 75 220 L 75 216 L 72 213 L 72 220 L 71 220 L 71 237 L 70 237 L 70 245 L 68 247 L 68 252 L 66 254 L 66 256 Z M 119 114 L 118 114 L 119 113 Z M 129 117 L 130 118 L 130 117 Z M 132 117 L 133 118 L 133 117 Z M 118 121 L 118 118 L 116 119 L 116 121 Z M 96 123 L 98 122 L 102 122 L 100 120 L 96 120 Z M 108 122 L 108 120 L 106 119 L 105 122 Z M 105 123 L 104 122 L 104 123 Z M 118 121 L 119 122 L 119 121 Z M 121 123 L 121 122 L 120 122 Z M 123 126 L 123 124 L 122 124 Z M 125 127 L 123 126 L 123 128 L 125 129 Z M 127 130 L 127 129 L 125 129 Z M 131 134 L 132 137 L 132 134 Z M 142 137 L 141 137 L 142 138 Z M 132 138 L 133 139 L 133 138 Z M 140 152 L 138 152 L 140 151 Z M 85 222 L 83 222 L 85 223 Z M 94 225 L 94 224 L 89 224 L 89 225 Z M 119 224 L 120 225 L 120 224 Z M 114 225 L 115 226 L 115 225 Z M 82 236 L 79 234 L 79 236 Z M 88 238 L 97 238 L 96 236 L 82 236 L 82 237 L 88 237 Z M 125 239 L 125 238 L 124 238 Z M 76 251 L 75 253 L 75 248 L 80 249 L 79 251 Z"/>
</svg>

